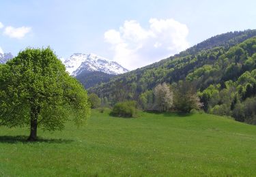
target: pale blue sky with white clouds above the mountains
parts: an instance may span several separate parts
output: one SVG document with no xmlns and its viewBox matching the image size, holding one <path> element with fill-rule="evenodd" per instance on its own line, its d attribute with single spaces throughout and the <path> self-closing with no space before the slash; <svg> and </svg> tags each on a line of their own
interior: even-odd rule
<svg viewBox="0 0 256 177">
<path fill-rule="evenodd" d="M 128 69 L 228 31 L 256 29 L 256 1 L 1 0 L 0 51 L 51 46 L 96 53 Z"/>
</svg>

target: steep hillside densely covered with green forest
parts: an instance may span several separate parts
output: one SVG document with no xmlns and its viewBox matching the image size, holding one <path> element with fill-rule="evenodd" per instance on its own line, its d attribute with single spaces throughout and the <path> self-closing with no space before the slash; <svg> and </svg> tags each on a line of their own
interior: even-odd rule
<svg viewBox="0 0 256 177">
<path fill-rule="evenodd" d="M 154 88 L 176 88 L 182 80 L 195 87 L 205 112 L 256 124 L 256 30 L 216 35 L 180 54 L 111 78 L 89 88 L 104 104 L 135 100 L 150 110 Z"/>
</svg>

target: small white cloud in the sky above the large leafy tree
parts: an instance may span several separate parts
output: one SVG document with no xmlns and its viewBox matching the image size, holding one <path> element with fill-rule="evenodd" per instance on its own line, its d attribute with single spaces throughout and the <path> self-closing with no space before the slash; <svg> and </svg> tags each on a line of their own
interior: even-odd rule
<svg viewBox="0 0 256 177">
<path fill-rule="evenodd" d="M 8 35 L 9 37 L 22 39 L 27 33 L 31 31 L 31 27 L 5 27 L 3 34 Z"/>
</svg>

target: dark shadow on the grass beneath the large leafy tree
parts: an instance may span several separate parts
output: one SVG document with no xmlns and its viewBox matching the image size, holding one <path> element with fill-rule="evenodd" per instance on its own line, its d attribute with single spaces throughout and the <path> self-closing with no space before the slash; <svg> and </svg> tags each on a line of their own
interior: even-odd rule
<svg viewBox="0 0 256 177">
<path fill-rule="evenodd" d="M 68 144 L 74 142 L 74 140 L 63 140 L 63 139 L 45 139 L 45 138 L 38 138 L 35 142 L 27 141 L 27 136 L 25 135 L 16 135 L 16 136 L 0 136 L 0 143 L 8 143 L 8 144 L 16 144 L 16 143 L 24 143 L 24 144 L 33 144 L 38 142 L 46 142 L 46 143 L 56 143 L 56 144 Z"/>
</svg>

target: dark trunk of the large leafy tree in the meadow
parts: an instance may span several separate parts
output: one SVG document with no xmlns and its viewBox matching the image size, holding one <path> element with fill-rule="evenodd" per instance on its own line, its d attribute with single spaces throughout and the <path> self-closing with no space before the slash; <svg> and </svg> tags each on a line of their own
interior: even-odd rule
<svg viewBox="0 0 256 177">
<path fill-rule="evenodd" d="M 27 139 L 28 141 L 36 141 L 38 139 L 37 131 L 38 131 L 38 114 L 39 108 L 32 107 L 30 110 L 30 135 Z"/>
</svg>

